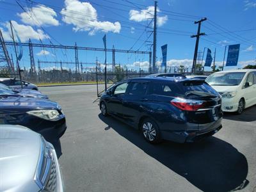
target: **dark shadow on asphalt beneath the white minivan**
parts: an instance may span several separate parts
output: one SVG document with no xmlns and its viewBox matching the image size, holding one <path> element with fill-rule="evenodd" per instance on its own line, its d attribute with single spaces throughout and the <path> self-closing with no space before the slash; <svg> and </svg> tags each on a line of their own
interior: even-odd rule
<svg viewBox="0 0 256 192">
<path fill-rule="evenodd" d="M 228 120 L 234 120 L 239 122 L 253 122 L 256 120 L 256 105 L 250 108 L 244 109 L 241 115 L 236 113 L 224 113 L 223 118 Z"/>
</svg>

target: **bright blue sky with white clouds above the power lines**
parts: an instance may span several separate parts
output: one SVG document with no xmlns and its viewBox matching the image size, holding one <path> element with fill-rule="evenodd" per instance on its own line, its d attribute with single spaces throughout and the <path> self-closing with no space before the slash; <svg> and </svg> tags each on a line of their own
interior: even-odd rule
<svg viewBox="0 0 256 192">
<path fill-rule="evenodd" d="M 19 3 L 19 4 L 18 4 Z M 65 0 L 29 1 L 0 0 L 0 29 L 5 41 L 11 41 L 10 20 L 22 42 L 107 47 L 134 51 L 152 51 L 154 24 L 152 0 Z M 195 35 L 202 22 L 198 51 L 209 48 L 216 65 L 222 65 L 226 45 L 241 44 L 236 67 L 256 64 L 256 0 L 161 0 L 157 2 L 157 63 L 161 63 L 161 46 L 168 44 L 167 65 L 191 67 L 195 51 Z M 28 47 L 24 47 L 21 67 L 28 67 Z M 13 47 L 8 46 L 13 54 Z M 75 61 L 73 50 L 33 48 L 35 61 Z M 95 63 L 96 57 L 104 63 L 104 52 L 79 51 L 79 61 Z M 204 54 L 204 60 L 206 51 Z M 138 70 L 148 68 L 148 54 L 116 53 L 116 63 Z M 226 52 L 227 58 L 227 52 Z M 112 63 L 108 52 L 107 62 Z M 204 61 L 203 61 L 204 64 Z M 36 62 L 37 65 L 37 62 Z M 84 65 L 88 68 L 92 65 Z M 54 67 L 44 64 L 42 67 Z M 55 67 L 58 67 L 55 65 Z M 65 67 L 65 65 L 63 66 Z M 67 65 L 66 67 L 70 67 Z M 109 67 L 111 67 L 109 65 Z M 211 70 L 205 67 L 205 70 Z"/>
</svg>

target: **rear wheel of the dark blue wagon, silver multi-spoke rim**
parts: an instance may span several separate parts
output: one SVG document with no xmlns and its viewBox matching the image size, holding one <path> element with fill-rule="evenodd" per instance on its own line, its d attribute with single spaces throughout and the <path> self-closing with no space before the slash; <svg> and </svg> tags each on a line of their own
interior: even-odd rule
<svg viewBox="0 0 256 192">
<path fill-rule="evenodd" d="M 143 120 L 141 123 L 141 132 L 143 138 L 148 141 L 148 143 L 156 144 L 161 142 L 161 134 L 154 120 L 150 118 Z"/>
</svg>

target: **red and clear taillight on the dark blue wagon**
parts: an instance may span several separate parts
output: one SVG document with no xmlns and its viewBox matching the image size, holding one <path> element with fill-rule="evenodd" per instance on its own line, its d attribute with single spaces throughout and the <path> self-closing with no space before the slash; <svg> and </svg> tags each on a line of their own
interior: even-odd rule
<svg viewBox="0 0 256 192">
<path fill-rule="evenodd" d="M 175 98 L 171 100 L 171 104 L 184 111 L 197 111 L 198 109 L 203 108 L 205 106 L 205 102 L 203 100 L 182 98 Z"/>
</svg>

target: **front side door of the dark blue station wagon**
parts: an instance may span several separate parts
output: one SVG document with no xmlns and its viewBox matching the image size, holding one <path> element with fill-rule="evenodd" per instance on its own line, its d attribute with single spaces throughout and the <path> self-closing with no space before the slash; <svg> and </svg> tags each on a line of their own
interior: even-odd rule
<svg viewBox="0 0 256 192">
<path fill-rule="evenodd" d="M 127 90 L 128 83 L 127 81 L 124 83 L 117 84 L 107 101 L 108 112 L 112 115 L 115 115 L 119 118 L 123 118 L 123 98 L 125 92 Z"/>
</svg>

